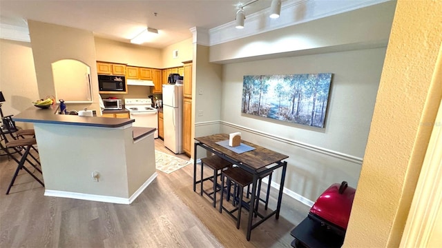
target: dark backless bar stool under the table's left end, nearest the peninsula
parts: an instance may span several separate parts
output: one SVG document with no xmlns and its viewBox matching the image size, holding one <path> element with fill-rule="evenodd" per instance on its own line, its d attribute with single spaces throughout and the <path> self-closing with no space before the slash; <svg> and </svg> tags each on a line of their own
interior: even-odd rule
<svg viewBox="0 0 442 248">
<path fill-rule="evenodd" d="M 213 176 L 209 176 L 207 178 L 203 178 L 203 167 L 204 165 L 207 165 L 213 170 Z M 206 196 L 209 196 L 211 200 L 213 200 L 213 207 L 216 207 L 216 192 L 218 192 L 223 187 L 220 187 L 218 184 L 218 176 L 221 175 L 221 172 L 223 169 L 229 168 L 232 166 L 232 163 L 229 161 L 226 161 L 223 158 L 220 158 L 220 156 L 212 155 L 206 158 L 201 158 L 201 191 L 200 194 L 206 194 Z M 213 182 L 213 189 L 212 192 L 208 192 L 203 189 L 203 183 L 206 180 L 211 180 Z M 213 196 L 212 196 L 213 195 Z"/>
</svg>

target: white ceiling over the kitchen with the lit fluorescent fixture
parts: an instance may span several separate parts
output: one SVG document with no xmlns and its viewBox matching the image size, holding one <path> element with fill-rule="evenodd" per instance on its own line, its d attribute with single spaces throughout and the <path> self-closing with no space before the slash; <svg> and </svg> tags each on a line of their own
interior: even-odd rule
<svg viewBox="0 0 442 248">
<path fill-rule="evenodd" d="M 235 20 L 244 0 L 0 0 L 0 23 L 26 30 L 27 20 L 54 23 L 89 30 L 96 37 L 130 42 L 145 28 L 159 35 L 150 43 L 164 48 L 192 37 L 193 27 L 211 29 Z M 270 7 L 271 0 L 259 0 L 244 8 L 246 15 Z M 156 13 L 156 14 L 155 14 Z M 26 28 L 26 29 L 25 29 Z M 3 28 L 4 29 L 4 28 Z M 0 29 L 1 33 L 1 29 Z"/>
</svg>

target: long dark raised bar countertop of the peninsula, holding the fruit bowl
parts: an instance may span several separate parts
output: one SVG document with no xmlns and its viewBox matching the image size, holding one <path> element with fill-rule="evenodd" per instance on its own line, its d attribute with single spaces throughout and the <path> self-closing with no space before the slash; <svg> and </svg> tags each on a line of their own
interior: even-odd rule
<svg viewBox="0 0 442 248">
<path fill-rule="evenodd" d="M 55 111 L 57 111 L 57 106 L 51 106 L 48 109 L 39 109 L 32 106 L 20 114 L 12 116 L 12 119 L 14 121 L 28 123 L 81 125 L 90 127 L 122 127 L 135 121 L 131 118 L 106 118 L 55 114 Z"/>
</svg>

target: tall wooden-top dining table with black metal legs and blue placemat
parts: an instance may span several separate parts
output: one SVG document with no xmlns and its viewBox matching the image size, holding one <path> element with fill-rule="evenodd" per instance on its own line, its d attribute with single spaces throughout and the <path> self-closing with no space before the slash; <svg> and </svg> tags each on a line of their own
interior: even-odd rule
<svg viewBox="0 0 442 248">
<path fill-rule="evenodd" d="M 209 136 L 201 136 L 195 138 L 195 149 L 194 149 L 194 161 L 193 161 L 193 191 L 196 191 L 196 185 L 201 183 L 201 180 L 197 180 L 197 150 L 198 147 L 202 147 L 213 154 L 224 158 L 225 160 L 237 165 L 238 167 L 246 170 L 247 172 L 253 175 L 253 184 L 252 184 L 252 192 L 251 192 L 251 200 L 249 209 L 255 209 L 256 203 L 256 190 L 258 185 L 258 179 L 260 176 L 265 175 L 269 172 L 273 172 L 274 170 L 282 167 L 282 174 L 280 178 L 280 188 L 278 192 L 278 203 L 276 205 L 276 209 L 266 214 L 265 216 L 260 215 L 261 219 L 253 223 L 253 214 L 249 214 L 249 220 L 247 223 L 247 240 L 250 240 L 251 230 L 255 227 L 258 227 L 265 220 L 269 219 L 271 216 L 275 215 L 276 219 L 279 218 L 281 201 L 282 201 L 282 190 L 284 189 L 284 180 L 285 174 L 287 171 L 287 161 L 283 161 L 289 156 L 280 154 L 278 152 L 274 152 L 265 147 L 261 147 L 259 145 L 255 145 L 253 143 L 242 140 L 242 145 L 247 145 L 249 147 L 253 147 L 253 149 L 249 152 L 237 153 L 232 149 L 219 145 L 221 141 L 228 141 L 229 134 L 213 134 Z M 270 183 L 270 182 L 269 182 Z"/>
</svg>

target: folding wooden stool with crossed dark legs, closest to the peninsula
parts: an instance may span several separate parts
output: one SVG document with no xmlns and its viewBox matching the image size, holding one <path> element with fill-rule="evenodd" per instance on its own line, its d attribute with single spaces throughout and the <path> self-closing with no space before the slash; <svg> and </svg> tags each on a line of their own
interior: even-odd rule
<svg viewBox="0 0 442 248">
<path fill-rule="evenodd" d="M 13 157 L 15 159 L 15 161 L 18 163 L 18 165 L 17 165 L 17 169 L 15 169 L 15 174 L 12 177 L 11 183 L 9 184 L 6 194 L 9 194 L 10 189 L 11 189 L 12 185 L 14 185 L 15 178 L 17 178 L 17 175 L 19 174 L 20 169 L 24 169 L 35 180 L 37 180 L 37 182 L 39 182 L 44 187 L 44 183 L 41 182 L 41 180 L 39 178 L 37 178 L 37 176 L 35 176 L 32 172 L 30 172 L 30 170 L 28 168 L 26 168 L 26 166 L 24 166 L 24 164 L 27 161 L 27 157 L 30 152 L 30 148 L 32 147 L 32 145 L 35 145 L 35 144 L 37 144 L 37 141 L 35 141 L 35 138 L 21 138 L 21 139 L 9 141 L 8 143 L 6 143 L 6 147 L 11 147 L 11 148 L 26 147 L 25 152 L 21 155 L 20 161 L 18 161 L 17 158 Z M 37 166 L 33 165 L 32 163 L 31 163 L 31 165 L 32 165 L 32 167 L 37 169 L 38 172 L 42 173 L 41 170 Z"/>
</svg>

